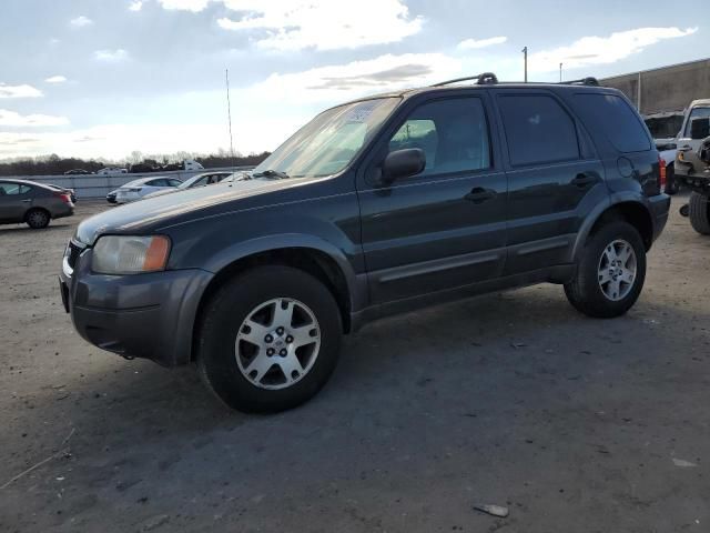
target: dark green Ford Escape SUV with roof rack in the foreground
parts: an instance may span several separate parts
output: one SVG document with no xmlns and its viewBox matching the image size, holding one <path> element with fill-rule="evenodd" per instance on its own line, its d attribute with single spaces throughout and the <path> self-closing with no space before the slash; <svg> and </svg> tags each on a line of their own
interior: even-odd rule
<svg viewBox="0 0 710 533">
<path fill-rule="evenodd" d="M 455 81 L 324 111 L 250 179 L 83 221 L 60 275 L 75 329 L 274 412 L 387 314 L 540 282 L 623 314 L 670 203 L 641 118 L 594 79 Z"/>
</svg>

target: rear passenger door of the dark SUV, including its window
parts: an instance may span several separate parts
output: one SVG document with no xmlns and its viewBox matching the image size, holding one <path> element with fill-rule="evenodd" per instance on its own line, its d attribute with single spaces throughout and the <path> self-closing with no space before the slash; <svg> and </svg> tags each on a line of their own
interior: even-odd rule
<svg viewBox="0 0 710 533">
<path fill-rule="evenodd" d="M 588 133 L 551 91 L 495 89 L 508 177 L 505 274 L 570 262 L 581 223 L 608 198 Z"/>
</svg>

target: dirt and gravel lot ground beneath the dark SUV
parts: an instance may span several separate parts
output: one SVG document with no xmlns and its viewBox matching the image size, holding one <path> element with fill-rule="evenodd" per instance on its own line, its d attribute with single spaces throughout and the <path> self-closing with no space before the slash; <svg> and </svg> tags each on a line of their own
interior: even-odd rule
<svg viewBox="0 0 710 533">
<path fill-rule="evenodd" d="M 389 319 L 275 416 L 73 331 L 62 251 L 111 208 L 0 227 L 0 531 L 710 531 L 710 238 L 682 201 L 627 316 L 545 285 Z"/>
</svg>

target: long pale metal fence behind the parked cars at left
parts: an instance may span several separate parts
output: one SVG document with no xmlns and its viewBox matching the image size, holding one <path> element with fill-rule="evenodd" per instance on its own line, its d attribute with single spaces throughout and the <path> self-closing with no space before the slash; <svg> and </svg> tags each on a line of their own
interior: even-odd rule
<svg viewBox="0 0 710 533">
<path fill-rule="evenodd" d="M 148 172 L 136 174 L 77 174 L 77 175 L 18 175 L 18 177 L 0 177 L 37 181 L 39 183 L 51 183 L 53 185 L 67 187 L 73 189 L 77 192 L 77 198 L 103 198 L 109 192 L 124 185 L 129 181 L 140 180 L 141 178 L 159 178 L 170 177 L 178 178 L 179 180 L 186 180 L 195 174 L 202 174 L 204 172 L 236 172 L 237 170 L 251 170 L 253 167 L 223 167 L 219 169 L 203 169 L 203 170 L 175 170 L 171 172 Z"/>
</svg>

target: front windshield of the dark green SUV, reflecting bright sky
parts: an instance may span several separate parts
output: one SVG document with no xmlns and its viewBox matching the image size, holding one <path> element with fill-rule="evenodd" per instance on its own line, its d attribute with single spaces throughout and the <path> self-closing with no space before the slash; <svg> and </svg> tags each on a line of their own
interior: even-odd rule
<svg viewBox="0 0 710 533">
<path fill-rule="evenodd" d="M 253 175 L 335 174 L 349 164 L 398 103 L 398 98 L 381 98 L 324 111 L 256 167 Z"/>
</svg>

